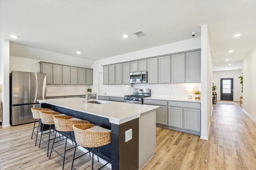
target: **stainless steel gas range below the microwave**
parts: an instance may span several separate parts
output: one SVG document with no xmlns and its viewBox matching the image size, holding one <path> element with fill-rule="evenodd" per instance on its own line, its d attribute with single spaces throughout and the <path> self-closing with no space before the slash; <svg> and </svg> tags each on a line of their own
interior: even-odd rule
<svg viewBox="0 0 256 170">
<path fill-rule="evenodd" d="M 150 97 L 150 89 L 148 88 L 134 88 L 133 95 L 124 96 L 124 102 L 133 104 L 143 104 L 143 98 Z"/>
</svg>

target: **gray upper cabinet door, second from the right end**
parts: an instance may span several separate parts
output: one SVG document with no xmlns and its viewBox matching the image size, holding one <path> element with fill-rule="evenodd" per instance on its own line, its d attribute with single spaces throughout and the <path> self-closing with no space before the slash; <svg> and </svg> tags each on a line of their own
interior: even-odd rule
<svg viewBox="0 0 256 170">
<path fill-rule="evenodd" d="M 185 53 L 171 55 L 171 82 L 185 82 Z"/>
</svg>

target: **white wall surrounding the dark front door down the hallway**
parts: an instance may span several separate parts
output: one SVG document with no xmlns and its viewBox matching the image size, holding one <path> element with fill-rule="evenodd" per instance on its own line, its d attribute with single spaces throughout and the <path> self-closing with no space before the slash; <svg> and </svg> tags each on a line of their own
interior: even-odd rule
<svg viewBox="0 0 256 170">
<path fill-rule="evenodd" d="M 227 71 L 214 71 L 212 72 L 212 80 L 214 81 L 214 85 L 217 86 L 217 100 L 220 100 L 220 79 L 221 78 L 233 78 L 233 100 L 240 101 L 240 96 L 242 96 L 241 92 L 241 84 L 239 76 L 242 75 L 241 70 L 227 70 Z"/>
</svg>

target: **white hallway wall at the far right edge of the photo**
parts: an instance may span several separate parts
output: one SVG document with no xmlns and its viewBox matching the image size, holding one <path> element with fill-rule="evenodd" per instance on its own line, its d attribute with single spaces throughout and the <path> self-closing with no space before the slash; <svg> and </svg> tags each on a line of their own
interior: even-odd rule
<svg viewBox="0 0 256 170">
<path fill-rule="evenodd" d="M 256 47 L 243 61 L 243 109 L 256 118 Z"/>
</svg>

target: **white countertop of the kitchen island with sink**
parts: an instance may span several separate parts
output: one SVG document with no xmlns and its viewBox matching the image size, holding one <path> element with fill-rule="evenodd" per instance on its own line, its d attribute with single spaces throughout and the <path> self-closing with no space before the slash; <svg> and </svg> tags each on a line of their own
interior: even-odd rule
<svg viewBox="0 0 256 170">
<path fill-rule="evenodd" d="M 91 101 L 92 99 L 89 99 Z M 84 98 L 63 98 L 38 100 L 39 103 L 47 103 L 54 106 L 60 106 L 100 117 L 108 118 L 110 123 L 120 125 L 130 120 L 140 117 L 140 114 L 157 109 L 159 106 L 150 106 L 143 104 L 129 104 L 124 102 L 108 102 L 105 104 L 85 103 Z"/>
</svg>

